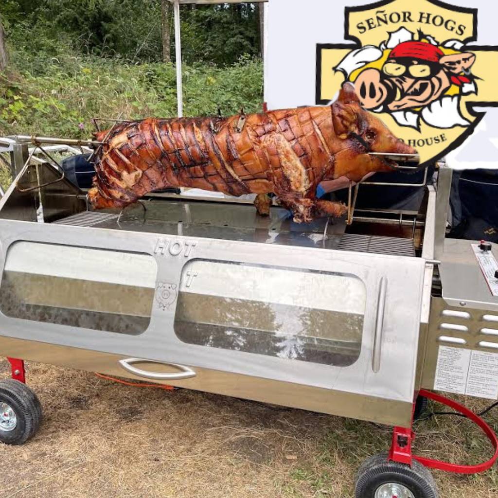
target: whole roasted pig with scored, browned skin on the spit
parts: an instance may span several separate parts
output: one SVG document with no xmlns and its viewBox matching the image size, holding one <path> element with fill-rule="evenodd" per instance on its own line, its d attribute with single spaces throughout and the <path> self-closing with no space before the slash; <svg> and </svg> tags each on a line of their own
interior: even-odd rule
<svg viewBox="0 0 498 498">
<path fill-rule="evenodd" d="M 123 208 L 170 187 L 233 196 L 273 192 L 297 222 L 345 213 L 342 203 L 316 199 L 321 181 L 341 176 L 359 181 L 369 172 L 391 170 L 366 145 L 369 151 L 416 152 L 360 107 L 351 85 L 331 106 L 229 118 L 147 118 L 118 124 L 96 138 L 104 141 L 95 153 L 89 191 L 96 209 Z M 256 206 L 267 214 L 264 201 Z"/>
</svg>

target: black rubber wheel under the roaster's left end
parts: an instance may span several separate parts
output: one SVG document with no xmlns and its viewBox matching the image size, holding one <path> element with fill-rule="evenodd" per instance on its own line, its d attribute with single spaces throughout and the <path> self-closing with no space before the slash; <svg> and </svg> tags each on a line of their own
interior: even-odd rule
<svg viewBox="0 0 498 498">
<path fill-rule="evenodd" d="M 0 442 L 23 444 L 40 426 L 41 404 L 36 394 L 22 382 L 0 380 Z"/>
</svg>

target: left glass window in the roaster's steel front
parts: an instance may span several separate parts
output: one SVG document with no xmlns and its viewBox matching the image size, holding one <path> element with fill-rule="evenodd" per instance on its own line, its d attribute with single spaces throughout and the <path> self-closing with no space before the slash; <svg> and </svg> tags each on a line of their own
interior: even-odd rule
<svg viewBox="0 0 498 498">
<path fill-rule="evenodd" d="M 16 242 L 0 310 L 12 318 L 140 334 L 150 322 L 157 264 L 148 254 Z"/>
</svg>

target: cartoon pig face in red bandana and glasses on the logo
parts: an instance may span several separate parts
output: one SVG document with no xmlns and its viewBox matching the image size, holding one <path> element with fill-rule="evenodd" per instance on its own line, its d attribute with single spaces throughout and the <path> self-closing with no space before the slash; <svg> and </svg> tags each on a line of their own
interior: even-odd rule
<svg viewBox="0 0 498 498">
<path fill-rule="evenodd" d="M 452 83 L 470 82 L 457 75 L 469 74 L 475 60 L 470 52 L 444 55 L 431 43 L 406 41 L 391 50 L 380 71 L 363 71 L 355 87 L 366 109 L 423 107 L 439 99 Z"/>
</svg>

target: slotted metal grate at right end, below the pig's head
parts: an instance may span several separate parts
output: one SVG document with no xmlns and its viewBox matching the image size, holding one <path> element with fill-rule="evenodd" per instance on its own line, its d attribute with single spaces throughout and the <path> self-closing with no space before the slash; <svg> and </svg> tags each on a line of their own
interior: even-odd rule
<svg viewBox="0 0 498 498">
<path fill-rule="evenodd" d="M 373 235 L 344 234 L 337 249 L 395 256 L 415 256 L 415 248 L 411 239 Z"/>
</svg>

